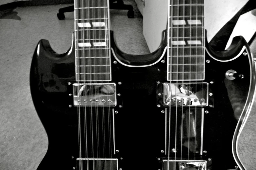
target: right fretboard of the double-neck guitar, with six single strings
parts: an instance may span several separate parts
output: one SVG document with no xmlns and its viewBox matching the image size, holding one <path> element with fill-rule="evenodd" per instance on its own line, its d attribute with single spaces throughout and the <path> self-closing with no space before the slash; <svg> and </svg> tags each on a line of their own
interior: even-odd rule
<svg viewBox="0 0 256 170">
<path fill-rule="evenodd" d="M 203 80 L 204 0 L 169 0 L 167 80 Z"/>
</svg>

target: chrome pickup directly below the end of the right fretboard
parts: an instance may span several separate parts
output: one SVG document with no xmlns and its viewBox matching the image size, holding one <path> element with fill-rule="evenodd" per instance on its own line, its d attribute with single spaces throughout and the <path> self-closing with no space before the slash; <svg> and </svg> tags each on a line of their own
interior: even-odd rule
<svg viewBox="0 0 256 170">
<path fill-rule="evenodd" d="M 206 82 L 162 83 L 157 88 L 157 98 L 162 106 L 208 106 L 208 86 Z"/>
</svg>

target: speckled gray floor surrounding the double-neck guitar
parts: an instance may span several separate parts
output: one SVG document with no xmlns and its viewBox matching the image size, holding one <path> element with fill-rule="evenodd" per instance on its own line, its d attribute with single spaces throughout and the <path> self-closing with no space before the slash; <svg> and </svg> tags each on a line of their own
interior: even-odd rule
<svg viewBox="0 0 256 170">
<path fill-rule="evenodd" d="M 132 0 L 125 3 L 135 7 Z M 34 170 L 46 153 L 47 136 L 30 96 L 29 69 L 40 39 L 49 40 L 58 53 L 70 47 L 74 14 L 66 13 L 63 21 L 56 17 L 58 9 L 66 6 L 18 7 L 10 13 L 18 17 L 0 19 L 0 170 Z M 137 8 L 134 19 L 127 18 L 127 11 L 111 10 L 111 22 L 121 50 L 149 53 Z M 249 170 L 256 167 L 255 120 L 255 115 L 249 117 L 239 142 L 241 159 Z"/>
</svg>

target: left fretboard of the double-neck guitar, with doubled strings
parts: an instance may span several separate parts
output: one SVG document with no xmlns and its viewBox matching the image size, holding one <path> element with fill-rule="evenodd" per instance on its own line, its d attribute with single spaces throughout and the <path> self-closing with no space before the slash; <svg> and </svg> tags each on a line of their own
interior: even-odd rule
<svg viewBox="0 0 256 170">
<path fill-rule="evenodd" d="M 108 0 L 75 0 L 76 81 L 110 81 Z"/>
</svg>

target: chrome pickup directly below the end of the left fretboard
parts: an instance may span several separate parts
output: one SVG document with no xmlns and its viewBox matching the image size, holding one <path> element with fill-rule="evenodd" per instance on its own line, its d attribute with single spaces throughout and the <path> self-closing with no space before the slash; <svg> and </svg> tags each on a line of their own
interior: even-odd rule
<svg viewBox="0 0 256 170">
<path fill-rule="evenodd" d="M 115 83 L 74 83 L 74 106 L 116 106 Z"/>
</svg>

